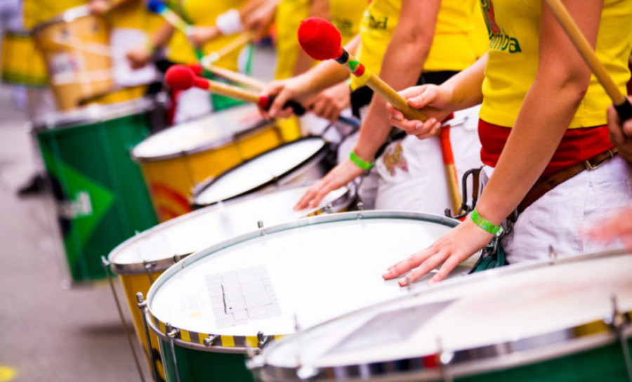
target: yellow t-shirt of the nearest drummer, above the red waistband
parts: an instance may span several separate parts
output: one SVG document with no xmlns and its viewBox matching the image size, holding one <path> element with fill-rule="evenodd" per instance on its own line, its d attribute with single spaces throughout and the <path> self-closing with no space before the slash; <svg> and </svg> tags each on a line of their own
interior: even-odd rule
<svg viewBox="0 0 632 382">
<path fill-rule="evenodd" d="M 491 124 L 512 127 L 537 71 L 541 1 L 484 0 L 481 6 L 489 31 L 489 58 L 480 117 Z M 605 0 L 595 49 L 624 94 L 630 78 L 630 20 L 632 1 Z M 591 76 L 588 91 L 569 128 L 606 124 L 605 110 L 609 104 L 605 90 Z"/>
</svg>

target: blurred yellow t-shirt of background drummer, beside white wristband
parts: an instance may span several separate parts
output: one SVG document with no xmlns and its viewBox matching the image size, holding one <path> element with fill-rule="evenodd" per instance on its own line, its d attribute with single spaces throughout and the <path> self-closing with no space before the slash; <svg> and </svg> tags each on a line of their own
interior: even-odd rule
<svg viewBox="0 0 632 382">
<path fill-rule="evenodd" d="M 215 25 L 215 20 L 218 15 L 228 11 L 231 8 L 241 8 L 246 3 L 246 0 L 223 0 L 223 1 L 211 1 L 211 0 L 183 0 L 180 4 L 181 13 L 185 20 L 191 22 L 192 25 L 204 27 Z M 176 12 L 179 13 L 179 12 Z M 230 36 L 220 35 L 218 38 L 209 41 L 202 47 L 202 53 L 208 55 L 214 51 L 218 51 L 223 46 L 230 44 L 233 40 L 237 39 L 239 34 L 232 34 Z M 239 50 L 236 50 L 228 55 L 223 56 L 215 62 L 214 65 L 218 67 L 224 67 L 230 70 L 237 70 L 237 58 L 239 57 Z M 171 41 L 169 42 L 169 48 L 167 49 L 167 58 L 173 62 L 180 62 L 191 64 L 197 62 L 195 56 L 195 50 L 187 40 L 187 37 L 182 32 L 176 29 L 173 33 Z"/>
</svg>

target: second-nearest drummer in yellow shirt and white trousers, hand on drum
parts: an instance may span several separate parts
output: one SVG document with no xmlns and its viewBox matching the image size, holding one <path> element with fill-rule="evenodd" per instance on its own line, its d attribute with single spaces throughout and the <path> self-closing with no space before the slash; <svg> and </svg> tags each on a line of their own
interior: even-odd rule
<svg viewBox="0 0 632 382">
<path fill-rule="evenodd" d="M 479 32 L 484 30 L 484 26 L 482 20 L 477 20 L 476 17 L 480 18 L 478 9 L 475 8 L 475 1 L 469 1 L 464 6 L 462 1 L 375 0 L 369 4 L 364 13 L 360 37 L 353 40 L 346 48 L 353 53 L 355 47 L 360 44 L 356 54 L 358 60 L 363 62 L 363 65 L 371 72 L 379 72 L 380 77 L 396 89 L 428 81 L 440 83 L 466 68 L 484 53 L 485 43 L 482 32 Z M 480 38 L 477 39 L 477 37 Z M 477 43 L 477 41 L 480 42 Z M 420 73 L 422 73 L 421 77 Z M 346 77 L 348 77 L 348 72 L 343 67 L 329 61 L 322 62 L 299 77 L 277 82 L 268 90 L 269 93 L 278 94 L 270 109 L 270 115 L 274 117 L 282 114 L 279 112 L 279 106 L 283 105 L 285 100 L 293 98 L 308 103 L 318 91 Z M 350 81 L 354 112 L 365 114 L 365 116 L 355 149 L 350 154 L 350 147 L 346 152 L 343 148 L 341 157 L 350 156 L 355 160 L 342 160 L 327 176 L 308 190 L 296 204 L 297 209 L 317 204 L 331 190 L 362 175 L 372 166 L 371 162 L 378 148 L 385 142 L 391 129 L 386 113 L 386 103 L 381 98 L 372 97 L 370 89 L 362 86 L 357 79 L 352 78 Z M 331 98 L 331 95 L 329 96 Z M 333 105 L 338 105 L 335 100 L 328 104 L 330 109 Z M 338 112 L 323 108 L 321 114 L 331 118 L 337 116 Z M 475 134 L 470 134 L 470 136 L 478 140 Z M 350 143 L 353 145 L 353 142 Z M 447 192 L 444 192 L 446 205 L 441 205 L 440 202 L 425 205 L 423 199 L 411 194 L 402 195 L 400 192 L 401 185 L 409 180 L 412 180 L 414 187 L 419 190 L 419 195 L 430 192 L 429 189 L 434 183 L 429 181 L 432 176 L 427 174 L 433 169 L 432 165 L 428 166 L 421 160 L 421 155 L 428 154 L 429 157 L 435 155 L 438 143 L 434 144 L 430 145 L 432 147 L 426 147 L 428 145 L 425 144 L 416 145 L 423 146 L 421 150 L 418 150 L 419 147 L 409 147 L 401 142 L 391 145 L 386 150 L 386 159 L 376 166 L 381 176 L 377 192 L 377 176 L 363 180 L 360 197 L 365 206 L 419 211 L 433 211 L 432 208 L 435 207 L 435 212 L 442 213 L 445 206 L 449 205 Z M 349 145 L 343 143 L 344 146 Z M 414 142 L 412 146 L 415 146 Z M 475 148 L 471 148 L 472 145 L 468 146 L 475 152 Z M 468 150 L 466 147 L 463 149 Z M 439 158 L 437 171 L 442 171 L 440 155 L 437 153 L 437 156 Z M 478 160 L 475 155 L 472 157 Z M 409 165 L 410 161 L 414 162 Z M 440 173 L 440 176 L 444 175 Z M 443 183 L 445 183 L 443 178 L 441 183 L 437 182 L 437 184 Z M 397 196 L 389 197 L 389 195 Z M 436 206 L 439 206 L 438 209 Z"/>
</svg>

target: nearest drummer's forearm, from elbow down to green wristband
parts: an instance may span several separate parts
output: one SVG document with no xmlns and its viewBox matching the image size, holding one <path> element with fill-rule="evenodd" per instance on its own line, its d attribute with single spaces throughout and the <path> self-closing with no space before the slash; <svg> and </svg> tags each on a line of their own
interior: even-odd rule
<svg viewBox="0 0 632 382">
<path fill-rule="evenodd" d="M 481 216 L 499 224 L 518 206 L 553 157 L 581 98 L 579 85 L 534 81 L 482 193 Z"/>
</svg>

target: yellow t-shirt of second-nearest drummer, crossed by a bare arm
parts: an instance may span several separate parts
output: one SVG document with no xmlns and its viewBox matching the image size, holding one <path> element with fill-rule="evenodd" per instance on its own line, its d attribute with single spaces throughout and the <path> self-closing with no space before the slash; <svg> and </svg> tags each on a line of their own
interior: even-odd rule
<svg viewBox="0 0 632 382">
<path fill-rule="evenodd" d="M 485 53 L 482 15 L 475 9 L 477 0 L 443 0 L 437 15 L 433 46 L 423 64 L 423 72 L 460 71 Z M 355 57 L 379 73 L 390 38 L 402 10 L 401 0 L 374 0 L 364 12 L 360 34 L 362 44 Z M 481 20 L 479 20 L 481 19 Z M 351 88 L 363 86 L 356 77 Z"/>
</svg>

